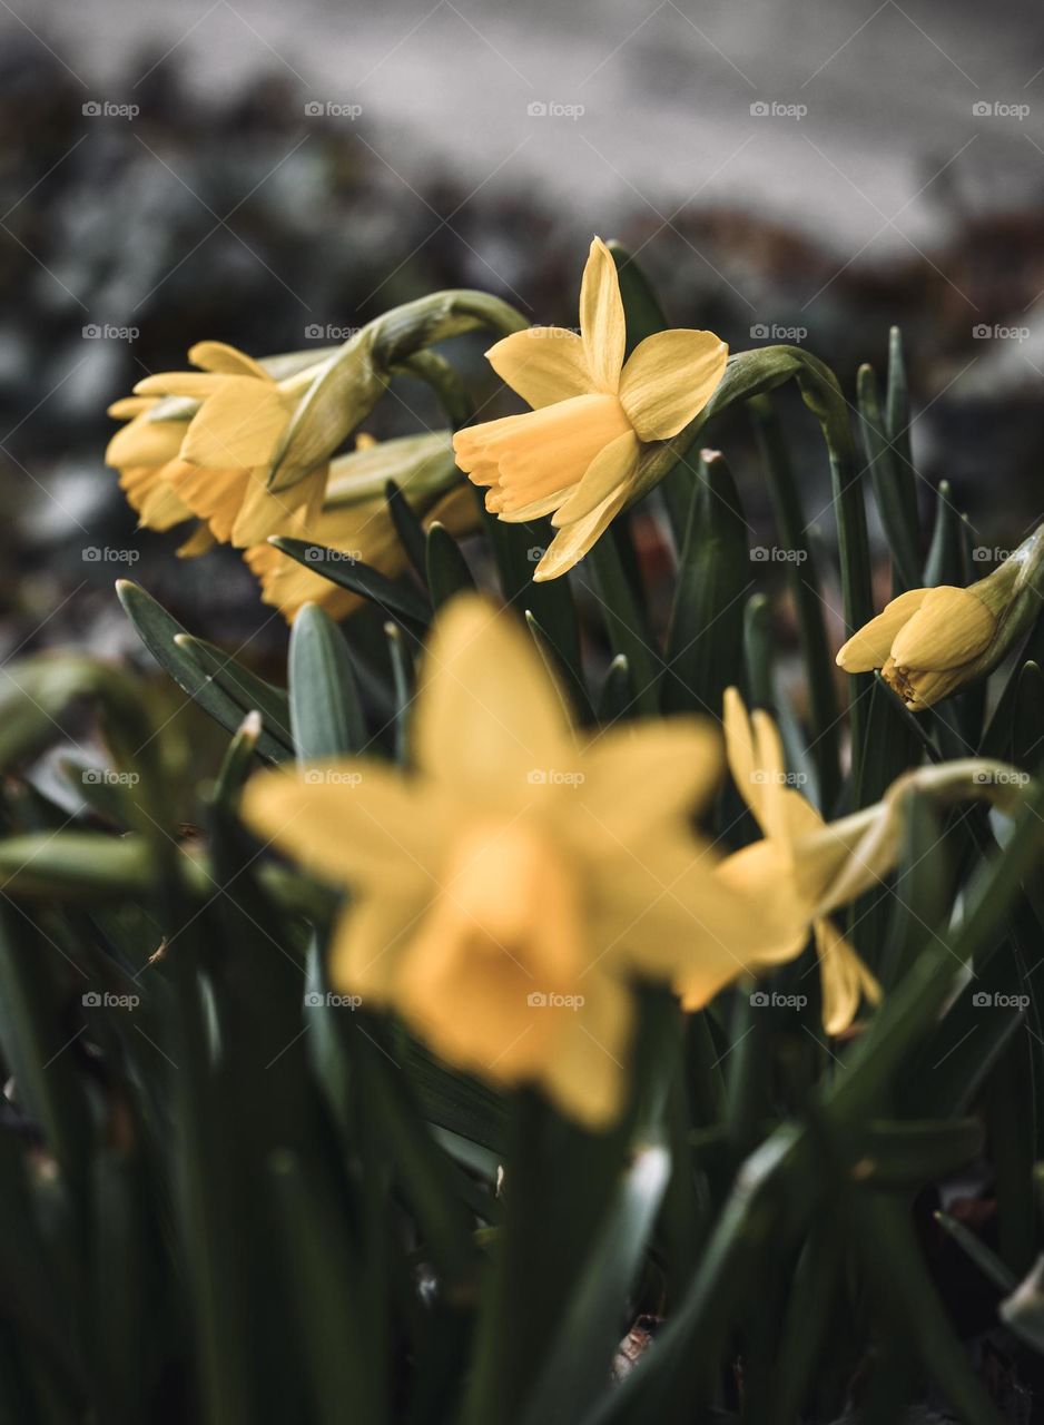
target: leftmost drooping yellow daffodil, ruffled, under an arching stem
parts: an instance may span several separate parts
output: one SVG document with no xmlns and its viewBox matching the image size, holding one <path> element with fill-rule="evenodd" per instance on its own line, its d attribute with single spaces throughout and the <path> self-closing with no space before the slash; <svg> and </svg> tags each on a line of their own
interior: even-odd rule
<svg viewBox="0 0 1044 1425">
<path fill-rule="evenodd" d="M 348 415 L 336 420 L 323 408 L 322 435 L 316 439 L 310 432 L 308 453 L 291 449 L 283 455 L 278 490 L 272 489 L 271 470 L 295 416 L 332 358 L 281 379 L 222 342 L 199 342 L 188 358 L 199 370 L 147 376 L 134 390 L 135 396 L 151 400 L 194 402 L 189 419 L 162 420 L 155 409 L 142 410 L 140 420 L 132 419 L 110 442 L 108 463 L 121 470 L 151 466 L 151 460 L 141 459 L 152 449 L 145 445 L 147 437 L 157 449 L 160 440 L 171 449 L 179 432 L 178 447 L 155 473 L 152 489 L 168 487 L 184 509 L 209 526 L 214 539 L 238 547 L 276 533 L 298 510 L 318 513 L 329 457 L 352 429 Z M 131 412 L 120 402 L 113 413 Z M 150 423 L 164 428 L 161 437 L 147 430 Z"/>
</svg>

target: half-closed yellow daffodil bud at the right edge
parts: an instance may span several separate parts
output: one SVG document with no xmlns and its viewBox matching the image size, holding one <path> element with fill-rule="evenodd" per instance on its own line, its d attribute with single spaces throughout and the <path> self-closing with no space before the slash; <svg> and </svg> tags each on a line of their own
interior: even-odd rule
<svg viewBox="0 0 1044 1425">
<path fill-rule="evenodd" d="M 882 677 L 913 712 L 986 677 L 1041 608 L 1044 534 L 1035 530 L 991 574 L 967 589 L 912 589 L 853 634 L 837 654 L 847 673 Z"/>
</svg>

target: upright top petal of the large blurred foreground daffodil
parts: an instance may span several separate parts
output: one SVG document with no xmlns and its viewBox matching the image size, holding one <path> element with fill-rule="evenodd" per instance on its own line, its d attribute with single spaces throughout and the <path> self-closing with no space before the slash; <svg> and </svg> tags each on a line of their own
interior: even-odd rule
<svg viewBox="0 0 1044 1425">
<path fill-rule="evenodd" d="M 571 731 L 540 654 L 484 598 L 461 596 L 440 614 L 420 687 L 417 765 L 469 801 L 526 805 L 568 770 Z"/>
</svg>

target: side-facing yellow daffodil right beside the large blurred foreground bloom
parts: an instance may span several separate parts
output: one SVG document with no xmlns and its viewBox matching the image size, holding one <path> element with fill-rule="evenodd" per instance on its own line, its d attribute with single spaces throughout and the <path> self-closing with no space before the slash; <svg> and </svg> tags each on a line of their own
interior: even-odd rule
<svg viewBox="0 0 1044 1425">
<path fill-rule="evenodd" d="M 877 1003 L 880 986 L 823 913 L 828 879 L 808 862 L 802 865 L 802 842 L 822 831 L 825 822 L 789 785 L 775 722 L 759 708 L 748 715 L 736 688 L 725 690 L 725 744 L 732 779 L 765 839 L 724 861 L 718 875 L 762 908 L 765 945 L 756 968 L 800 955 L 812 932 L 819 956 L 823 1027 L 828 1035 L 840 1035 L 856 1017 L 860 999 Z M 702 1003 L 701 995 L 694 996 L 684 982 L 682 996 L 691 1007 Z"/>
</svg>

